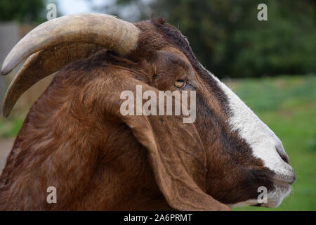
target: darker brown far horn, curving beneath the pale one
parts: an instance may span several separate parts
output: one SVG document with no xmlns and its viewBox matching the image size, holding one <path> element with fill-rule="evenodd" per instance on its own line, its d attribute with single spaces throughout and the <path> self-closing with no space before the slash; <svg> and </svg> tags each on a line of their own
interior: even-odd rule
<svg viewBox="0 0 316 225">
<path fill-rule="evenodd" d="M 22 64 L 6 91 L 2 108 L 4 117 L 8 117 L 18 98 L 31 86 L 68 63 L 87 58 L 101 49 L 104 47 L 88 43 L 62 43 L 33 53 Z"/>
</svg>

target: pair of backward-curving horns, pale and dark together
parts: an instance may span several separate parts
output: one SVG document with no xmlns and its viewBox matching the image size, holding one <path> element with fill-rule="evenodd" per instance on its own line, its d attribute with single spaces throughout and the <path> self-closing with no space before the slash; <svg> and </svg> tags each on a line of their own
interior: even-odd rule
<svg viewBox="0 0 316 225">
<path fill-rule="evenodd" d="M 4 117 L 40 79 L 100 49 L 126 55 L 136 47 L 139 33 L 132 23 L 98 13 L 65 15 L 34 28 L 13 47 L 2 65 L 1 73 L 7 75 L 29 56 L 8 88 Z"/>
</svg>

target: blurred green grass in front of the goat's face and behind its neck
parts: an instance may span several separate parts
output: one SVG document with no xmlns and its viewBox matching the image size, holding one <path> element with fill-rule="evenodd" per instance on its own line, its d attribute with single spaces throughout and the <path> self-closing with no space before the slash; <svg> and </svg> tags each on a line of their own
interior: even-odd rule
<svg viewBox="0 0 316 225">
<path fill-rule="evenodd" d="M 316 210 L 316 75 L 226 82 L 281 139 L 296 172 L 293 191 L 277 209 Z M 0 137 L 15 136 L 21 119 L 0 120 Z"/>
</svg>

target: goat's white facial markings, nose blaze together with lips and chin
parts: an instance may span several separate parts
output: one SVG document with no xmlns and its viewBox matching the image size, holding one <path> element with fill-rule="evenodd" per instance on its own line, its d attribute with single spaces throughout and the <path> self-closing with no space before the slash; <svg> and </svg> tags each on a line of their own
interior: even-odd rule
<svg viewBox="0 0 316 225">
<path fill-rule="evenodd" d="M 220 89 L 224 91 L 228 98 L 232 113 L 228 122 L 232 131 L 237 131 L 239 136 L 248 143 L 254 157 L 261 159 L 265 167 L 275 172 L 276 176 L 274 179 L 283 181 L 274 182 L 275 191 L 269 192 L 268 203 L 262 204 L 265 207 L 279 206 L 283 198 L 291 191 L 291 186 L 284 182 L 291 183 L 295 179 L 294 170 L 280 156 L 282 155 L 284 158 L 287 158 L 287 153 L 285 153 L 282 142 L 228 86 L 220 82 L 211 72 L 209 72 L 209 75 L 218 82 Z M 230 207 L 256 204 L 258 204 L 257 200 L 251 199 L 230 205 Z"/>
</svg>

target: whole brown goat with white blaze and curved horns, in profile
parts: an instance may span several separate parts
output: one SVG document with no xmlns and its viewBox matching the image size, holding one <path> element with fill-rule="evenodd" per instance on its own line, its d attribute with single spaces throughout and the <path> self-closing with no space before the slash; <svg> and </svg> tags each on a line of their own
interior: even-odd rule
<svg viewBox="0 0 316 225">
<path fill-rule="evenodd" d="M 277 207 L 295 180 L 282 142 L 198 62 L 162 18 L 66 15 L 4 60 L 3 113 L 57 72 L 32 105 L 0 178 L 1 210 L 230 210 Z M 196 91 L 197 117 L 121 115 L 124 90 Z M 57 203 L 46 201 L 47 188 Z M 267 188 L 258 203 L 258 188 Z"/>
</svg>

